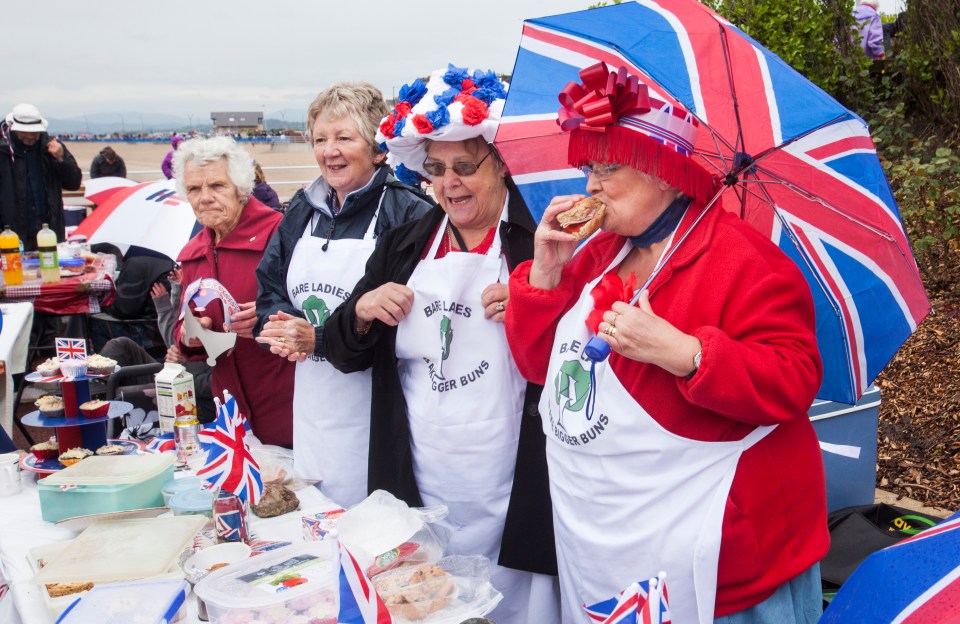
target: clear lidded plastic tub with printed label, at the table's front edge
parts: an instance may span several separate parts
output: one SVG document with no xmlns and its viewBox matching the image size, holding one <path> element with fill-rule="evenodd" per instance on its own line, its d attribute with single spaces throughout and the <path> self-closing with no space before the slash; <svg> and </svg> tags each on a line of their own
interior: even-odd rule
<svg viewBox="0 0 960 624">
<path fill-rule="evenodd" d="M 194 591 L 210 622 L 281 624 L 295 616 L 336 624 L 340 610 L 336 540 L 295 544 L 204 577 Z"/>
</svg>

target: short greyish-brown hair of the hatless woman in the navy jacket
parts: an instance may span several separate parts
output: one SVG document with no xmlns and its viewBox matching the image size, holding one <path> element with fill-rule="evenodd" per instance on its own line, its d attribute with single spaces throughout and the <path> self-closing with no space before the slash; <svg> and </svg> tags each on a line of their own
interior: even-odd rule
<svg viewBox="0 0 960 624">
<path fill-rule="evenodd" d="M 380 154 L 377 128 L 380 120 L 390 114 L 380 89 L 369 82 L 338 82 L 332 84 L 310 102 L 307 108 L 307 137 L 313 143 L 313 124 L 317 117 L 342 119 L 349 117 L 357 125 L 360 135 L 370 145 L 370 154 Z"/>
</svg>

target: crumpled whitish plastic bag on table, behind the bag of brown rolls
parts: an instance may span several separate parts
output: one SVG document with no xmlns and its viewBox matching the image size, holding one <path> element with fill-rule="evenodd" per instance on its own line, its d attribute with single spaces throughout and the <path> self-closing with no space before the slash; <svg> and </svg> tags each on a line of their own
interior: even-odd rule
<svg viewBox="0 0 960 624">
<path fill-rule="evenodd" d="M 439 559 L 450 534 L 431 523 L 446 515 L 446 507 L 411 508 L 389 492 L 377 490 L 340 516 L 337 531 L 372 577 L 403 562 Z"/>
</svg>

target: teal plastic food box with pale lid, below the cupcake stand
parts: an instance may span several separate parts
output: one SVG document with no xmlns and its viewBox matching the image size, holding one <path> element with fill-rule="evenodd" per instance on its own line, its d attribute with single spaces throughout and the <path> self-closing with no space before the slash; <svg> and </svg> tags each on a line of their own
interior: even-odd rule
<svg viewBox="0 0 960 624">
<path fill-rule="evenodd" d="M 37 483 L 43 519 L 161 507 L 175 461 L 170 453 L 88 457 Z"/>
</svg>

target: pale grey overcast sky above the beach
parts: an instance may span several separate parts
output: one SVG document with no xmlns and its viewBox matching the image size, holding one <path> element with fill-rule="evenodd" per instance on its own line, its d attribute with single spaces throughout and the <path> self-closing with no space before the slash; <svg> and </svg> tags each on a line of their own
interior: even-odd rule
<svg viewBox="0 0 960 624">
<path fill-rule="evenodd" d="M 524 19 L 593 1 L 35 0 L 5 11 L 0 109 L 288 111 L 293 121 L 339 80 L 368 80 L 392 97 L 447 62 L 509 73 Z M 881 11 L 901 4 L 881 0 Z M 29 23 L 17 24 L 21 11 Z"/>
</svg>

